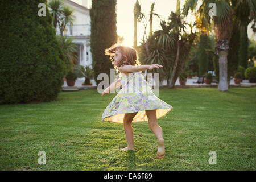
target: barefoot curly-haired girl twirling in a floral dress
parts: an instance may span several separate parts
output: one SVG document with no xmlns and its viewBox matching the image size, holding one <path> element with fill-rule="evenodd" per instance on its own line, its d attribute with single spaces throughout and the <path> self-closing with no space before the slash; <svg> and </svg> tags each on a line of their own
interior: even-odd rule
<svg viewBox="0 0 256 182">
<path fill-rule="evenodd" d="M 163 131 L 158 125 L 157 119 L 171 111 L 172 106 L 155 96 L 141 74 L 146 69 L 160 69 L 163 66 L 159 64 L 141 65 L 138 61 L 137 51 L 126 46 L 114 44 L 105 50 L 105 54 L 110 56 L 114 68 L 121 72 L 121 78 L 106 88 L 101 96 L 108 94 L 119 85 L 122 85 L 122 89 L 106 107 L 102 114 L 102 121 L 123 123 L 128 146 L 120 148 L 121 151 L 134 150 L 131 123 L 148 121 L 150 129 L 159 143 L 156 156 L 163 158 L 165 156 Z M 131 90 L 133 91 L 130 92 Z"/>
</svg>

